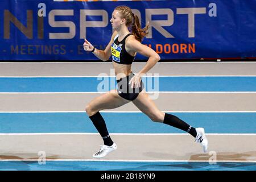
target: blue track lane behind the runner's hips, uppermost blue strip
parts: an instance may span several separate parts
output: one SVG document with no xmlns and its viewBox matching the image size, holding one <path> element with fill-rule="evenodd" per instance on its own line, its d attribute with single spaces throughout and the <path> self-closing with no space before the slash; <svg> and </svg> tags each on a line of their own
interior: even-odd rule
<svg viewBox="0 0 256 182">
<path fill-rule="evenodd" d="M 159 90 L 154 84 L 158 79 Z M 149 86 L 150 81 L 153 86 Z M 17 77 L 0 78 L 0 92 L 97 92 L 100 82 L 109 84 L 103 88 L 104 92 L 115 88 L 114 77 L 104 77 L 102 80 L 97 80 L 97 77 Z M 147 77 L 143 78 L 143 82 L 148 92 L 256 91 L 256 77 Z"/>
</svg>

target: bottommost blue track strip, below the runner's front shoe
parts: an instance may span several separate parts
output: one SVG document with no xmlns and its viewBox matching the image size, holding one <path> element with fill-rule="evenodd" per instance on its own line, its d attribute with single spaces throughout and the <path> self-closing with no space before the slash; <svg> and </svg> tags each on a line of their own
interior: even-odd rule
<svg viewBox="0 0 256 182">
<path fill-rule="evenodd" d="M 256 163 L 223 163 L 209 164 L 207 162 L 85 162 L 85 161 L 46 161 L 38 162 L 1 162 L 0 170 L 22 171 L 255 171 Z"/>
</svg>

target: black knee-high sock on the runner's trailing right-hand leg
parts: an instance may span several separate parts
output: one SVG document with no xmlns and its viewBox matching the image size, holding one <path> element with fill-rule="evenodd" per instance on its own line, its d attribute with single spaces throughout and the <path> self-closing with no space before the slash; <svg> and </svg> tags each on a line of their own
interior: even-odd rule
<svg viewBox="0 0 256 182">
<path fill-rule="evenodd" d="M 177 129 L 186 131 L 187 133 L 191 134 L 193 137 L 196 137 L 196 129 L 191 127 L 181 119 L 177 118 L 175 115 L 166 113 L 164 115 L 163 123 L 176 127 Z"/>
</svg>

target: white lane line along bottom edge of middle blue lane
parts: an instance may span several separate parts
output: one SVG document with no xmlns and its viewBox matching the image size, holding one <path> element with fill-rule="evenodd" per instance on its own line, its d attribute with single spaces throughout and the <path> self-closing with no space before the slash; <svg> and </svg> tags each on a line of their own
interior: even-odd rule
<svg viewBox="0 0 256 182">
<path fill-rule="evenodd" d="M 0 135 L 99 135 L 98 133 L 0 133 Z M 189 135 L 187 133 L 110 133 L 110 135 Z M 207 133 L 212 136 L 256 136 L 256 133 Z"/>
</svg>

